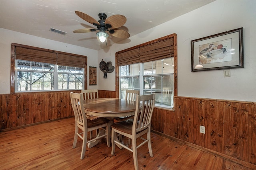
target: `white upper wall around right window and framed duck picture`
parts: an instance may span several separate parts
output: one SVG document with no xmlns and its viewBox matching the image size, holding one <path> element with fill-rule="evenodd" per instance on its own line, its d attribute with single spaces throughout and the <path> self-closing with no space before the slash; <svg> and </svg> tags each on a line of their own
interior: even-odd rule
<svg viewBox="0 0 256 170">
<path fill-rule="evenodd" d="M 191 72 L 190 41 L 244 27 L 244 68 Z M 99 51 L 99 61 L 115 64 L 115 53 L 176 33 L 178 36 L 178 96 L 256 102 L 256 0 L 216 0 L 197 10 Z M 125 41 L 124 41 L 125 42 Z M 115 74 L 99 76 L 100 90 L 115 90 Z M 106 86 L 108 84 L 108 86 Z"/>
</svg>

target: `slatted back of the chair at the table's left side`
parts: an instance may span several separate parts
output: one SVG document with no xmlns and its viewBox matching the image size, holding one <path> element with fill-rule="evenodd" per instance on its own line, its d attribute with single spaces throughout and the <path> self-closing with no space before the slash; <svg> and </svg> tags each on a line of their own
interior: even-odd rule
<svg viewBox="0 0 256 170">
<path fill-rule="evenodd" d="M 74 111 L 76 122 L 82 126 L 84 125 L 87 126 L 86 115 L 83 107 L 84 99 L 83 99 L 82 93 L 70 92 L 70 99 L 71 99 L 71 104 Z"/>
</svg>

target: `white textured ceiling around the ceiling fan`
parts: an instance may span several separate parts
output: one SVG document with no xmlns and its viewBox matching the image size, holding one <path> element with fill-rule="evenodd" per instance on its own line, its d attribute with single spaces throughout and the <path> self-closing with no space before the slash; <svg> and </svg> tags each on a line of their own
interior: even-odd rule
<svg viewBox="0 0 256 170">
<path fill-rule="evenodd" d="M 136 35 L 168 20 L 200 8 L 214 0 L 0 0 L 0 27 L 63 43 L 99 50 L 106 47 L 97 40 L 96 32 L 73 33 L 75 29 L 96 28 L 82 20 L 74 11 L 81 11 L 99 20 L 121 14 L 127 18 L 120 27 Z M 61 35 L 50 27 L 67 32 Z M 161 31 L 161 30 L 159 30 Z M 123 39 L 110 35 L 108 44 Z M 130 39 L 122 41 L 129 42 Z"/>
</svg>

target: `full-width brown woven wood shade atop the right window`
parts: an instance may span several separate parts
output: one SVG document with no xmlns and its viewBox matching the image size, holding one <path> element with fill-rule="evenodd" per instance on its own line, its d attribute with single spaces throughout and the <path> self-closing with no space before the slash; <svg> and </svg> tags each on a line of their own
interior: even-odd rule
<svg viewBox="0 0 256 170">
<path fill-rule="evenodd" d="M 168 57 L 174 57 L 174 37 L 145 43 L 129 51 L 117 52 L 117 64 L 118 66 L 123 66 Z"/>
</svg>

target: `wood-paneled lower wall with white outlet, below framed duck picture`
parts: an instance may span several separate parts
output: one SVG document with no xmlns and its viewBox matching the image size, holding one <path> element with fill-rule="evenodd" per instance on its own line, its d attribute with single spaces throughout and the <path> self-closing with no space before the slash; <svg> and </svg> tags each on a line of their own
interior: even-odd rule
<svg viewBox="0 0 256 170">
<path fill-rule="evenodd" d="M 174 108 L 155 108 L 152 129 L 256 165 L 256 103 L 175 97 Z"/>
</svg>

